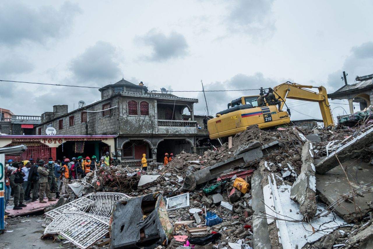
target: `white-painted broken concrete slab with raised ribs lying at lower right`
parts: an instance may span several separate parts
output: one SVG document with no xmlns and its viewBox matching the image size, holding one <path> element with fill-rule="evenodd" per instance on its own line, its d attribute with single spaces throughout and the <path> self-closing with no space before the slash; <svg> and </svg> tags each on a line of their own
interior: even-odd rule
<svg viewBox="0 0 373 249">
<path fill-rule="evenodd" d="M 324 205 L 317 206 L 316 215 L 319 218 L 313 219 L 309 223 L 293 222 L 303 221 L 303 215 L 290 211 L 299 208 L 298 203 L 289 200 L 291 186 L 285 184 L 280 175 L 270 173 L 267 178 L 268 184 L 263 187 L 267 223 L 269 226 L 275 224 L 278 230 L 278 232 L 275 230 L 270 232 L 272 248 L 280 248 L 279 245 L 273 245 L 273 234 L 280 238 L 279 242 L 283 248 L 295 248 L 296 245 L 298 248 L 303 248 L 306 243 L 313 243 L 322 236 L 332 233 L 338 227 L 348 225 L 335 213 L 325 210 Z M 253 230 L 255 231 L 256 227 L 253 227 Z M 317 233 L 314 233 L 313 230 Z M 254 233 L 254 238 L 255 236 Z"/>
</svg>

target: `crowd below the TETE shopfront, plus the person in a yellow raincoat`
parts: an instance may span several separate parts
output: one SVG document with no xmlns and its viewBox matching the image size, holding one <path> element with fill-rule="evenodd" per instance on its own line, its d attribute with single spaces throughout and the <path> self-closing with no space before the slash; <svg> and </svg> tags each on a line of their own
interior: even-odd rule
<svg viewBox="0 0 373 249">
<path fill-rule="evenodd" d="M 146 170 L 146 155 L 144 154 Z M 23 161 L 5 161 L 5 192 L 4 192 L 4 210 L 9 202 L 10 196 L 14 198 L 13 209 L 18 210 L 26 207 L 26 202 L 40 203 L 54 201 L 60 197 L 60 194 L 68 193 L 67 184 L 71 180 L 85 177 L 89 172 L 104 166 L 120 165 L 120 160 L 113 155 L 110 158 L 109 152 L 98 159 L 96 156 L 78 156 L 71 160 L 63 156 L 62 160 L 54 160 L 49 157 L 47 160 L 37 158 Z M 51 193 L 56 193 L 53 198 Z M 5 214 L 9 214 L 5 212 Z"/>
</svg>

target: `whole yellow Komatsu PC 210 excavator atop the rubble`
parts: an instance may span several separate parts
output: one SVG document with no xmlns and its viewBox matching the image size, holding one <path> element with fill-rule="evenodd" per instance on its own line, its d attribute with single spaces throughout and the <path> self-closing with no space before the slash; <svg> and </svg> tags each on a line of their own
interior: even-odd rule
<svg viewBox="0 0 373 249">
<path fill-rule="evenodd" d="M 317 88 L 319 93 L 305 88 Z M 210 138 L 229 137 L 245 131 L 248 126 L 253 124 L 257 124 L 260 129 L 263 129 L 290 123 L 290 109 L 282 111 L 283 106 L 286 105 L 286 99 L 318 102 L 324 127 L 334 126 L 325 87 L 300 85 L 287 81 L 272 90 L 276 99 L 279 100 L 279 109 L 277 105 L 268 105 L 264 102 L 264 97 L 265 106 L 258 107 L 257 99 L 260 95 L 235 99 L 228 104 L 228 109 L 216 113 L 216 117 L 207 122 Z M 261 95 L 263 96 L 263 94 L 264 90 L 261 90 Z"/>
</svg>

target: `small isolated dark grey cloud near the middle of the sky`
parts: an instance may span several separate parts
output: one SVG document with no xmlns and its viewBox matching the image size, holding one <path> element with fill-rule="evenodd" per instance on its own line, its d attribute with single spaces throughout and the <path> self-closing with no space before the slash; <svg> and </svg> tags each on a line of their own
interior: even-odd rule
<svg viewBox="0 0 373 249">
<path fill-rule="evenodd" d="M 153 48 L 151 56 L 146 57 L 148 60 L 165 61 L 172 58 L 184 57 L 188 54 L 188 44 L 185 37 L 175 31 L 172 31 L 168 36 L 151 29 L 142 37 L 147 46 Z"/>
</svg>

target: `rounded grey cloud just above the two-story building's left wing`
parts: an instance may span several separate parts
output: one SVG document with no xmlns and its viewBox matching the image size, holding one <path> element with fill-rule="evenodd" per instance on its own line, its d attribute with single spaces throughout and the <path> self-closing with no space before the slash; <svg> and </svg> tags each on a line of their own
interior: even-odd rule
<svg viewBox="0 0 373 249">
<path fill-rule="evenodd" d="M 79 81 L 116 80 L 122 75 L 115 47 L 104 41 L 98 41 L 73 59 L 70 70 Z"/>
</svg>

